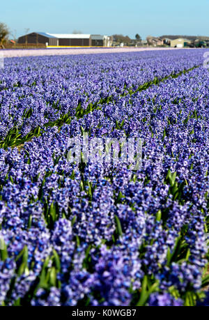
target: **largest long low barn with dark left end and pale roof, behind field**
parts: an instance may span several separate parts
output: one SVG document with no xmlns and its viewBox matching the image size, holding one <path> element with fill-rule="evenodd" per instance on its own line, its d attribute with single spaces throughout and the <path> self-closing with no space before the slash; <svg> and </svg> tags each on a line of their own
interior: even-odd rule
<svg viewBox="0 0 209 320">
<path fill-rule="evenodd" d="M 58 33 L 45 33 L 33 32 L 26 34 L 18 39 L 20 44 L 29 43 L 43 43 L 49 46 L 75 46 L 75 47 L 88 47 L 91 46 L 90 34 L 58 34 Z"/>
</svg>

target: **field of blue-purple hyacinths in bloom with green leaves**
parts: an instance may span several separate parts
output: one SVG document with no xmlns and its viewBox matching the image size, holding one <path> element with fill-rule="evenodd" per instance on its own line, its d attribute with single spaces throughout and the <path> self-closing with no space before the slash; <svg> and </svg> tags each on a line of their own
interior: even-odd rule
<svg viewBox="0 0 209 320">
<path fill-rule="evenodd" d="M 204 52 L 5 59 L 0 305 L 208 305 Z M 140 137 L 140 169 L 69 162 L 84 132 Z"/>
</svg>

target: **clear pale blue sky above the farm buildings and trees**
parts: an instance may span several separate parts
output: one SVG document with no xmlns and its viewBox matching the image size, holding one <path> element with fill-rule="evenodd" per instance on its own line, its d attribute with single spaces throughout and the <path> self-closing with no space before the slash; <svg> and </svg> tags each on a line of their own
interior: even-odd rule
<svg viewBox="0 0 209 320">
<path fill-rule="evenodd" d="M 209 0 L 8 0 L 0 6 L 0 22 L 12 33 L 123 33 L 209 36 Z"/>
</svg>

